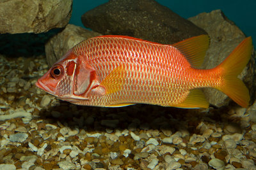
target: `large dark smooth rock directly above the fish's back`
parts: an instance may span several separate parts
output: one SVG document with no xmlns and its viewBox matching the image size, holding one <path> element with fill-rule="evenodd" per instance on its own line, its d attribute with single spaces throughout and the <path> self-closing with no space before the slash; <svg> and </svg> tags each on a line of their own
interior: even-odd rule
<svg viewBox="0 0 256 170">
<path fill-rule="evenodd" d="M 102 34 L 118 34 L 163 44 L 207 34 L 153 0 L 110 0 L 82 16 L 85 27 Z"/>
</svg>

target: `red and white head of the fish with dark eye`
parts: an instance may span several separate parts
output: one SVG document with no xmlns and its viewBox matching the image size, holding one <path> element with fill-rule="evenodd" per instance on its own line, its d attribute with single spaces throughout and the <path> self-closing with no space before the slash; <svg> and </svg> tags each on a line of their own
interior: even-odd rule
<svg viewBox="0 0 256 170">
<path fill-rule="evenodd" d="M 64 101 L 77 103 L 88 100 L 99 81 L 95 69 L 70 50 L 38 79 L 36 86 Z"/>
</svg>

